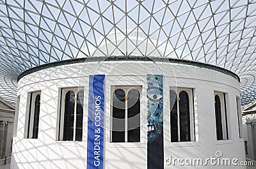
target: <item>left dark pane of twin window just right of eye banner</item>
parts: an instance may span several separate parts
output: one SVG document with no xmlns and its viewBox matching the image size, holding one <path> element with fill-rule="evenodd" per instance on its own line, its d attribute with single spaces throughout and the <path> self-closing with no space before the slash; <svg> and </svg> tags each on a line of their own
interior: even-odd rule
<svg viewBox="0 0 256 169">
<path fill-rule="evenodd" d="M 171 108 L 171 142 L 178 142 L 178 116 L 177 116 L 177 96 L 175 91 L 170 91 Z"/>
</svg>

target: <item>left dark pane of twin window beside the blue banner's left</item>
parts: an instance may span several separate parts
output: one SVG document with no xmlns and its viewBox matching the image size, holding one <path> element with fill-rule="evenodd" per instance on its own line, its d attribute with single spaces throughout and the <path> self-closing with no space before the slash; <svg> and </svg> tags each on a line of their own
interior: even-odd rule
<svg viewBox="0 0 256 169">
<path fill-rule="evenodd" d="M 74 133 L 74 107 L 75 107 L 75 93 L 68 91 L 65 96 L 65 115 L 64 115 L 64 128 L 63 140 L 72 141 Z"/>
</svg>

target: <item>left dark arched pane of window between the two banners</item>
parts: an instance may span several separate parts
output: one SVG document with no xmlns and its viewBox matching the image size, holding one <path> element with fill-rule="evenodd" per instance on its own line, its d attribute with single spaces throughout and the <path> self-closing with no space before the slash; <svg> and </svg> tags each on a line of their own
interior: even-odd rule
<svg viewBox="0 0 256 169">
<path fill-rule="evenodd" d="M 113 92 L 112 105 L 112 142 L 125 142 L 125 92 Z"/>
</svg>

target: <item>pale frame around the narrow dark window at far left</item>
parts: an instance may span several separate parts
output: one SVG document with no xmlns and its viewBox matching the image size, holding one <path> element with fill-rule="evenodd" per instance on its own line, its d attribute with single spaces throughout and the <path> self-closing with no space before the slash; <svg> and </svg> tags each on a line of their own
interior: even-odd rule
<svg viewBox="0 0 256 169">
<path fill-rule="evenodd" d="M 25 128 L 25 135 L 24 138 L 32 138 L 32 139 L 38 139 L 33 138 L 33 128 L 34 128 L 34 117 L 35 117 L 35 101 L 36 101 L 36 96 L 40 95 L 40 105 L 41 105 L 41 99 L 42 99 L 42 94 L 41 91 L 34 91 L 34 92 L 29 92 L 28 93 L 28 104 L 27 104 L 27 114 L 26 114 L 26 128 Z M 33 104 L 34 103 L 34 104 Z M 40 106 L 41 107 L 41 106 Z M 39 107 L 39 115 L 40 115 L 40 107 Z M 38 128 L 39 128 L 39 121 L 40 117 L 38 120 Z M 39 133 L 39 130 L 38 130 Z"/>
</svg>

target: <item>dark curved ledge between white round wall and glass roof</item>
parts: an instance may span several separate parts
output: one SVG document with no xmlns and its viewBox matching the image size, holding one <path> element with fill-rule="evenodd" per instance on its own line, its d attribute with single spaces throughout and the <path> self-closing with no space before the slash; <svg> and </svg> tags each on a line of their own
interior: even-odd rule
<svg viewBox="0 0 256 169">
<path fill-rule="evenodd" d="M 236 73 L 233 73 L 230 70 L 226 70 L 224 68 L 220 68 L 218 66 L 214 66 L 211 64 L 206 64 L 203 62 L 196 62 L 196 61 L 188 61 L 183 59 L 173 59 L 173 58 L 164 58 L 164 57 L 145 57 L 145 56 L 109 56 L 109 57 L 83 57 L 83 58 L 77 58 L 77 59 L 70 59 L 66 61 L 57 61 L 57 62 L 51 62 L 47 64 L 42 64 L 40 66 L 36 66 L 35 68 L 31 68 L 29 70 L 26 70 L 17 78 L 17 81 L 19 82 L 20 78 L 29 75 L 31 73 L 34 73 L 39 70 L 44 70 L 47 68 L 52 68 L 54 66 L 61 66 L 65 64 L 74 64 L 74 63 L 80 63 L 80 62 L 101 62 L 101 61 L 153 61 L 153 62 L 171 62 L 171 63 L 179 63 L 179 64 L 188 64 L 192 66 L 198 66 L 200 68 L 207 68 L 209 70 L 215 70 L 219 71 L 221 73 L 225 73 L 226 75 L 229 75 L 230 77 L 236 78 L 238 82 L 240 82 L 240 78 L 236 75 Z"/>
</svg>

